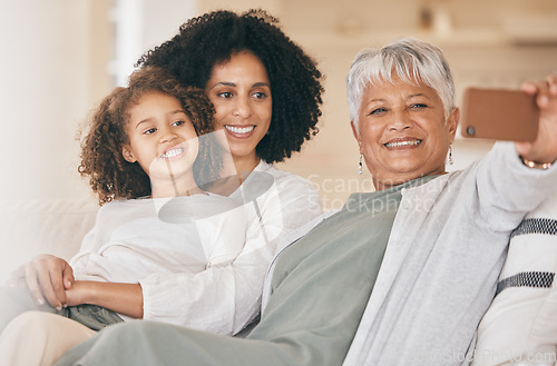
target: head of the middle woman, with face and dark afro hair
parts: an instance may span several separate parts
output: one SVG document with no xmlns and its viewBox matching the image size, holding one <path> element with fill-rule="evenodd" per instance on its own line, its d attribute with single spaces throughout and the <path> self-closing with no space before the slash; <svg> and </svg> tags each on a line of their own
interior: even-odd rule
<svg viewBox="0 0 557 366">
<path fill-rule="evenodd" d="M 237 72 L 245 73 L 232 79 L 225 72 L 236 63 L 243 66 Z M 190 19 L 177 36 L 148 51 L 138 65 L 165 68 L 182 83 L 205 89 L 216 108 L 216 128 L 225 129 L 241 171 L 253 170 L 258 160 L 273 164 L 290 158 L 317 132 L 323 91 L 321 72 L 281 31 L 277 20 L 263 10 L 242 14 L 215 11 Z M 257 82 L 264 83 L 261 87 L 265 87 L 265 96 L 255 90 L 256 83 L 250 83 L 256 72 L 262 73 Z M 242 89 L 242 85 L 232 81 L 242 81 L 248 88 Z M 229 90 L 215 90 L 219 82 Z M 243 91 L 248 95 L 238 95 Z M 234 115 L 224 108 L 245 97 L 272 107 L 262 126 L 248 118 L 228 120 L 232 116 L 225 115 Z"/>
</svg>

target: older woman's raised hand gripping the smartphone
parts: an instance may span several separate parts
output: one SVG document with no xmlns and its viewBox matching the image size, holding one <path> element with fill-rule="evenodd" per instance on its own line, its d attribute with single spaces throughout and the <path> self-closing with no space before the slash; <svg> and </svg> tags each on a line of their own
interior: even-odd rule
<svg viewBox="0 0 557 366">
<path fill-rule="evenodd" d="M 522 90 L 536 96 L 539 108 L 538 136 L 534 142 L 516 142 L 518 154 L 530 161 L 557 160 L 557 76 L 540 81 L 528 81 Z"/>
</svg>

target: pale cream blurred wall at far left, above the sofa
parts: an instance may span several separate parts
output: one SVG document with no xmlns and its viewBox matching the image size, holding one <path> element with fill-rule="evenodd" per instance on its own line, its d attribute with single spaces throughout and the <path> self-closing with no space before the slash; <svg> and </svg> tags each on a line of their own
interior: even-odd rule
<svg viewBox="0 0 557 366">
<path fill-rule="evenodd" d="M 78 178 L 74 137 L 104 89 L 104 81 L 95 77 L 98 65 L 106 71 L 106 58 L 92 37 L 102 1 L 96 2 L 0 4 L 1 198 L 61 198 L 88 191 Z M 102 33 L 106 27 L 100 28 Z"/>
</svg>

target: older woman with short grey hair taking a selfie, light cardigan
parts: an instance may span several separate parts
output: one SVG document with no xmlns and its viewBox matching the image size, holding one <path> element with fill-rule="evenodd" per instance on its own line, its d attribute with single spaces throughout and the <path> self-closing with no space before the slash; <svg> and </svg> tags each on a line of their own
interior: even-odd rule
<svg viewBox="0 0 557 366">
<path fill-rule="evenodd" d="M 352 195 L 282 251 L 247 339 L 128 323 L 57 365 L 466 363 L 509 234 L 555 190 L 557 78 L 525 87 L 541 109 L 536 142 L 497 145 L 455 174 L 444 160 L 459 110 L 439 49 L 404 39 L 363 50 L 348 89 L 377 191 Z"/>
</svg>

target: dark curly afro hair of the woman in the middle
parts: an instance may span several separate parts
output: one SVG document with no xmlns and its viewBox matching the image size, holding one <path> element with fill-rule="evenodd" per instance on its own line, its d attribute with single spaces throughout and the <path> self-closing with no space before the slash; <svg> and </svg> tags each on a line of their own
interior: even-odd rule
<svg viewBox="0 0 557 366">
<path fill-rule="evenodd" d="M 241 51 L 263 62 L 273 96 L 271 126 L 256 154 L 270 164 L 282 161 L 317 133 L 323 87 L 315 62 L 282 32 L 275 18 L 263 10 L 221 10 L 193 18 L 137 65 L 165 68 L 182 83 L 205 89 L 213 67 Z"/>
</svg>

